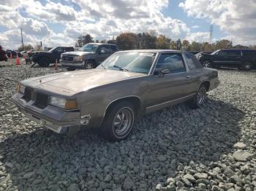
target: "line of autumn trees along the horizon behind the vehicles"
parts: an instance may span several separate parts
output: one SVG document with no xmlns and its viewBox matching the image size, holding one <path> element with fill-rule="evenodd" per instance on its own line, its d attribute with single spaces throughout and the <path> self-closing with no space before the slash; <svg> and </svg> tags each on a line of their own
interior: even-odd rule
<svg viewBox="0 0 256 191">
<path fill-rule="evenodd" d="M 89 42 L 102 42 L 116 44 L 120 50 L 132 50 L 132 49 L 173 49 L 173 50 L 186 50 L 186 51 L 197 51 L 197 52 L 213 52 L 219 49 L 230 49 L 230 48 L 253 48 L 254 46 L 242 46 L 237 44 L 233 46 L 230 40 L 222 39 L 217 42 L 189 42 L 187 39 L 173 40 L 165 35 L 157 35 L 155 31 L 143 32 L 139 34 L 127 32 L 121 33 L 118 36 L 113 37 L 110 40 L 95 40 L 90 34 L 84 36 L 78 36 L 78 40 L 75 43 L 75 47 L 82 47 L 84 44 Z"/>
</svg>

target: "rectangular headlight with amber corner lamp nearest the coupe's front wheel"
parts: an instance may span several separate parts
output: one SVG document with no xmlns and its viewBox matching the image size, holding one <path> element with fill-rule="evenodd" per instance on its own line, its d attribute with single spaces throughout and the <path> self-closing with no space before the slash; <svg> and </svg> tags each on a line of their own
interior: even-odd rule
<svg viewBox="0 0 256 191">
<path fill-rule="evenodd" d="M 67 110 L 78 109 L 78 101 L 76 99 L 65 99 L 50 96 L 49 104 Z"/>
</svg>

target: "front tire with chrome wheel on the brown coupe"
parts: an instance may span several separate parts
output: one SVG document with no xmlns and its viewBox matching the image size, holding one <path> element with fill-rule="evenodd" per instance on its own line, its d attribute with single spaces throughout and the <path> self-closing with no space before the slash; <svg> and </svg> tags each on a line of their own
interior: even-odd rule
<svg viewBox="0 0 256 191">
<path fill-rule="evenodd" d="M 135 107 L 128 101 L 111 106 L 100 128 L 101 135 L 108 141 L 127 139 L 135 120 Z"/>
</svg>

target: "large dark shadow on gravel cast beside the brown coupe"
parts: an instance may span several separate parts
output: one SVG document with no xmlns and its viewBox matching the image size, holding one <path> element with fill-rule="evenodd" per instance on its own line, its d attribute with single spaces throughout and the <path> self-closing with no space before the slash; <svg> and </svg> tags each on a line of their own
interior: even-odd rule
<svg viewBox="0 0 256 191">
<path fill-rule="evenodd" d="M 18 190 L 64 190 L 72 183 L 113 190 L 127 176 L 133 190 L 151 190 L 184 165 L 203 169 L 220 160 L 238 141 L 243 117 L 231 104 L 208 99 L 201 109 L 180 105 L 141 117 L 129 139 L 118 143 L 92 130 L 67 138 L 35 128 L 1 142 L 0 160 L 10 174 L 6 182 Z"/>
</svg>

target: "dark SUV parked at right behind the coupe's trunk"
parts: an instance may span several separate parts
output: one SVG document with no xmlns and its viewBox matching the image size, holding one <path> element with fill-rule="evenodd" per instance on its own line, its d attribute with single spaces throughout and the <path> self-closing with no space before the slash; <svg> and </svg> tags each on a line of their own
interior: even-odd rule
<svg viewBox="0 0 256 191">
<path fill-rule="evenodd" d="M 256 50 L 253 49 L 223 49 L 211 54 L 198 53 L 195 56 L 205 67 L 256 69 Z"/>
</svg>

